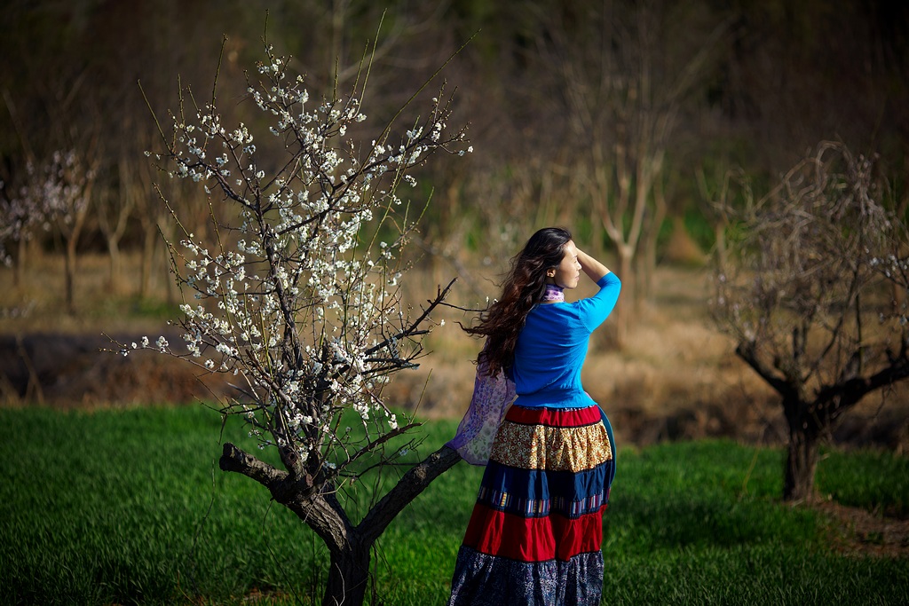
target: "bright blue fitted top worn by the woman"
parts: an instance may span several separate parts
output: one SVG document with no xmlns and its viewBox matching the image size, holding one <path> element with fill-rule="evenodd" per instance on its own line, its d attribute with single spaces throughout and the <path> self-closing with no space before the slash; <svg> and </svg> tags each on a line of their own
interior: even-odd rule
<svg viewBox="0 0 909 606">
<path fill-rule="evenodd" d="M 581 385 L 590 335 L 613 311 L 622 283 L 607 273 L 598 293 L 574 303 L 544 303 L 527 315 L 514 348 L 514 402 L 520 406 L 594 405 Z"/>
</svg>

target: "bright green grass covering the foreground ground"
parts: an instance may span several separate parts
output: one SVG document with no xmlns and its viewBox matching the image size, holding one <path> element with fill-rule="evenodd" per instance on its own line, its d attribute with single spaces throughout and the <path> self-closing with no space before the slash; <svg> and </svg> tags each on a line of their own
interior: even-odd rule
<svg viewBox="0 0 909 606">
<path fill-rule="evenodd" d="M 218 470 L 215 412 L 7 409 L 0 422 L 5 603 L 241 603 L 255 592 L 317 603 L 320 542 L 258 484 Z M 422 450 L 454 426 L 427 425 Z M 225 440 L 255 450 L 239 424 Z M 779 502 L 779 450 L 683 442 L 625 448 L 618 465 L 604 531 L 609 603 L 909 603 L 909 559 L 834 552 L 834 524 Z M 481 472 L 459 463 L 389 527 L 375 551 L 376 603 L 445 603 Z M 909 461 L 829 451 L 817 482 L 846 504 L 904 515 Z"/>
</svg>

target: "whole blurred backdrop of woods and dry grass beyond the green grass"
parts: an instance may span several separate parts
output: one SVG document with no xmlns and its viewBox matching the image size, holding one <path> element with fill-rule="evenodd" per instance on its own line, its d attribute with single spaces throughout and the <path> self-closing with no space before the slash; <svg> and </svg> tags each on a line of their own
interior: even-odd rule
<svg viewBox="0 0 909 606">
<path fill-rule="evenodd" d="M 153 113 L 168 132 L 181 87 L 205 104 L 217 73 L 225 124 L 264 131 L 246 72 L 255 76 L 265 35 L 293 55 L 315 99 L 349 91 L 375 41 L 364 99 L 374 129 L 454 55 L 421 96 L 443 79 L 456 89 L 454 120 L 468 124 L 474 152 L 421 167 L 408 194 L 430 202 L 402 290 L 419 304 L 458 274 L 453 302 L 482 306 L 529 233 L 571 228 L 624 284 L 623 317 L 597 334 L 584 380 L 620 443 L 784 441 L 774 393 L 707 327 L 704 263 L 723 253 L 724 234 L 736 236 L 718 208 L 767 194 L 822 140 L 876 158 L 884 204 L 901 216 L 909 205 L 909 3 L 7 0 L 0 27 L 0 245 L 11 255 L 10 268 L 0 265 L 0 402 L 223 395 L 218 385 L 200 394 L 192 372 L 99 356 L 109 343 L 86 335 L 128 342 L 175 317 L 162 243 L 174 225 L 154 185 L 190 231 L 213 230 L 203 189 L 145 156 L 162 147 Z M 425 111 L 423 100 L 409 115 Z M 51 221 L 26 207 L 34 224 L 13 217 L 61 153 L 85 171 L 67 177 L 87 201 L 80 228 L 75 211 Z M 14 218 L 27 233 L 4 231 Z M 62 294 L 73 290 L 64 257 L 75 301 Z M 457 417 L 469 402 L 477 343 L 457 328 L 464 314 L 450 313 L 427 339 L 441 362 L 396 380 L 395 406 Z M 81 336 L 35 334 L 45 332 Z M 898 406 L 868 402 L 836 442 L 905 452 L 909 389 L 886 397 Z"/>
</svg>

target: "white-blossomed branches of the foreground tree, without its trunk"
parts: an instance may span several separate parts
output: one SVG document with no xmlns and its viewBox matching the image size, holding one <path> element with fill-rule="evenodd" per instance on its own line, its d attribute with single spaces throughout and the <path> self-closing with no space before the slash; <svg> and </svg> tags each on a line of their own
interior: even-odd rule
<svg viewBox="0 0 909 606">
<path fill-rule="evenodd" d="M 371 436 L 397 430 L 381 389 L 419 353 L 418 335 L 398 334 L 410 322 L 396 286 L 415 224 L 396 190 L 416 187 L 411 168 L 462 137 L 434 100 L 403 133 L 355 142 L 361 129 L 350 126 L 366 119 L 356 95 L 311 100 L 291 71 L 268 51 L 261 82 L 247 89 L 261 117 L 226 124 L 214 104 L 195 116 L 175 113 L 168 171 L 200 183 L 217 220 L 186 230 L 171 250 L 186 295 L 185 353 L 163 336 L 155 345 L 239 376 L 247 396 L 229 410 L 261 447 L 341 462 L 335 452 L 362 444 L 357 432 L 333 433 L 340 415 L 355 412 Z M 181 205 L 171 207 L 180 219 Z"/>
</svg>

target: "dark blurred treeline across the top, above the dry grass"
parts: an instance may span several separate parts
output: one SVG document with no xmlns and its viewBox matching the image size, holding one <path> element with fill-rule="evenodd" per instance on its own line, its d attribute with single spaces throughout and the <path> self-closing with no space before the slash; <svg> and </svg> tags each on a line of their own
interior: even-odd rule
<svg viewBox="0 0 909 606">
<path fill-rule="evenodd" d="M 639 263 L 645 294 L 664 225 L 709 223 L 704 200 L 728 171 L 765 186 L 824 139 L 878 154 L 905 201 L 905 3 L 14 0 L 0 22 L 0 202 L 15 206 L 41 166 L 82 171 L 88 208 L 46 242 L 109 252 L 113 278 L 120 248 L 143 249 L 144 289 L 166 223 L 152 184 L 199 204 L 149 166 L 148 105 L 166 132 L 180 85 L 208 102 L 223 35 L 217 103 L 247 123 L 245 70 L 265 32 L 314 96 L 349 88 L 376 40 L 365 113 L 379 126 L 470 40 L 441 77 L 474 154 L 431 163 L 423 180 L 426 244 L 453 258 L 501 256 L 534 226 L 567 224 L 625 275 Z M 21 271 L 26 247 L 5 248 Z"/>
</svg>

